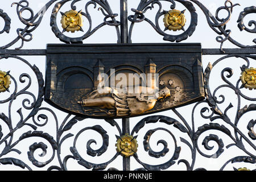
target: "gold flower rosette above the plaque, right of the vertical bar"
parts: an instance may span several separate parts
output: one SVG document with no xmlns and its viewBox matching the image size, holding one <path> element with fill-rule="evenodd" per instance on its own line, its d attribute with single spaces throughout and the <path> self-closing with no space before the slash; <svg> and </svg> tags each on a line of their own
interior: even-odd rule
<svg viewBox="0 0 256 182">
<path fill-rule="evenodd" d="M 170 10 L 168 13 L 164 14 L 164 26 L 168 30 L 184 30 L 185 26 L 185 15 L 179 10 Z"/>
</svg>

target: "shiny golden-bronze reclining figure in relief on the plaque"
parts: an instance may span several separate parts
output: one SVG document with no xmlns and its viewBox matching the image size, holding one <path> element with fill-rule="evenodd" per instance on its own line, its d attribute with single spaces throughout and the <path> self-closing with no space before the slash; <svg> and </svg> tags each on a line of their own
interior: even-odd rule
<svg viewBox="0 0 256 182">
<path fill-rule="evenodd" d="M 159 90 L 150 87 L 139 86 L 139 93 L 127 92 L 129 88 L 117 89 L 105 87 L 104 92 L 98 90 L 87 94 L 78 103 L 83 107 L 98 107 L 108 109 L 108 115 L 129 116 L 142 114 L 151 110 L 160 98 L 166 98 L 171 95 L 167 87 Z M 87 109 L 84 109 L 86 113 Z M 91 109 L 90 109 L 91 110 Z"/>
</svg>

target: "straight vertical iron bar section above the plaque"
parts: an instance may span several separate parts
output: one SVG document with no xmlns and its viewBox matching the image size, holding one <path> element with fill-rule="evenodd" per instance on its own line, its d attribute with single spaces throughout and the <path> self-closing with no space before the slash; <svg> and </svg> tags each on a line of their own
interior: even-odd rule
<svg viewBox="0 0 256 182">
<path fill-rule="evenodd" d="M 128 43 L 127 0 L 120 0 L 121 43 Z"/>
</svg>

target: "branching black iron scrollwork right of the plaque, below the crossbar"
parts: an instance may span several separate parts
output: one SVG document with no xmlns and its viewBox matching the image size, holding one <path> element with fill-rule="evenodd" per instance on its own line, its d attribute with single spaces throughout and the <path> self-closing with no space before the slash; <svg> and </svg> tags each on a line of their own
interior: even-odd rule
<svg viewBox="0 0 256 182">
<path fill-rule="evenodd" d="M 215 121 L 216 119 L 222 119 L 222 121 L 225 121 L 226 124 L 228 124 L 229 126 L 232 126 L 234 129 L 234 135 L 232 135 L 231 131 L 229 129 L 227 129 L 225 126 L 219 125 L 217 123 L 210 123 L 210 125 L 204 125 L 203 128 L 199 128 L 199 130 L 196 132 L 197 133 L 201 133 L 201 131 L 204 130 L 209 130 L 209 129 L 215 129 L 215 130 L 220 130 L 223 133 L 225 133 L 226 135 L 228 135 L 230 137 L 230 139 L 232 139 L 234 141 L 234 143 L 229 144 L 226 148 L 229 148 L 230 146 L 237 146 L 238 148 L 240 148 L 242 151 L 244 151 L 248 156 L 248 158 L 251 159 L 251 161 L 255 160 L 255 155 L 253 153 L 250 153 L 247 148 L 245 147 L 245 145 L 243 144 L 243 142 L 246 142 L 247 144 L 249 144 L 249 146 L 251 148 L 253 148 L 253 150 L 256 150 L 256 146 L 255 144 L 248 138 L 246 137 L 245 134 L 242 133 L 242 131 L 238 128 L 238 123 L 242 118 L 242 115 L 249 112 L 249 111 L 253 111 L 255 110 L 254 104 L 250 105 L 249 107 L 246 105 L 245 107 L 241 108 L 241 98 L 244 98 L 245 100 L 248 101 L 255 101 L 255 98 L 251 98 L 251 97 L 247 97 L 242 93 L 242 88 L 243 86 L 241 85 L 241 79 L 239 78 L 237 81 L 236 85 L 233 85 L 232 82 L 230 82 L 228 80 L 228 78 L 233 76 L 233 70 L 231 68 L 225 68 L 222 70 L 221 72 L 221 78 L 222 80 L 224 80 L 224 82 L 226 83 L 225 85 L 220 85 L 218 86 L 213 94 L 211 94 L 210 89 L 209 89 L 209 75 L 210 75 L 210 71 L 212 70 L 212 68 L 220 63 L 220 61 L 227 59 L 228 57 L 240 57 L 243 60 L 246 61 L 247 65 L 243 65 L 241 67 L 241 69 L 245 69 L 245 68 L 249 68 L 250 65 L 250 61 L 247 57 L 253 58 L 255 59 L 254 56 L 250 56 L 250 55 L 228 55 L 228 56 L 224 56 L 221 57 L 220 59 L 218 59 L 216 62 L 214 62 L 213 65 L 208 65 L 208 68 L 205 71 L 205 90 L 207 92 L 207 100 L 208 100 L 208 104 L 211 107 L 213 113 L 215 115 L 210 115 L 209 119 L 211 122 Z M 225 72 L 228 72 L 228 75 L 224 75 Z M 234 121 L 231 121 L 230 117 L 228 116 L 228 110 L 231 109 L 233 107 L 233 105 L 230 103 L 228 105 L 228 107 L 226 107 L 225 111 L 221 111 L 221 109 L 218 107 L 218 104 L 222 104 L 225 101 L 225 97 L 224 95 L 220 95 L 220 97 L 222 98 L 221 101 L 217 100 L 216 97 L 216 93 L 219 89 L 221 88 L 229 88 L 235 91 L 237 98 L 238 98 L 238 103 L 237 103 L 237 114 L 236 114 L 236 118 L 234 119 Z M 205 111 L 205 110 L 204 110 Z M 253 131 L 253 126 L 254 126 L 254 121 L 253 119 L 248 123 L 247 125 L 247 129 L 249 130 L 249 137 L 251 139 L 254 139 L 254 131 Z M 216 157 L 218 155 L 221 154 L 221 152 L 223 152 L 223 142 L 222 140 L 218 139 L 217 137 L 211 137 L 212 140 L 215 140 L 218 143 L 219 149 L 216 153 Z M 207 139 L 208 140 L 208 139 Z M 207 140 L 204 140 L 203 144 L 205 145 L 206 148 L 209 148 L 205 143 L 207 142 Z M 210 148 L 209 148 L 210 149 Z M 253 162 L 251 162 L 253 163 Z M 255 162 L 254 162 L 255 163 Z"/>
</svg>

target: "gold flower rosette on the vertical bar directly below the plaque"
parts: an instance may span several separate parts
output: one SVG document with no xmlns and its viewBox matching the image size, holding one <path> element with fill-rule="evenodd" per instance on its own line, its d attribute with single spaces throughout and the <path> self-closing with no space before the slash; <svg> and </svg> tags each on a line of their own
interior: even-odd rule
<svg viewBox="0 0 256 182">
<path fill-rule="evenodd" d="M 117 139 L 115 146 L 117 147 L 117 152 L 120 152 L 122 156 L 128 158 L 137 152 L 138 143 L 133 136 L 126 133 Z"/>
</svg>

